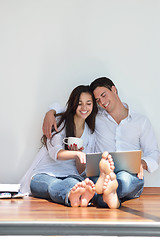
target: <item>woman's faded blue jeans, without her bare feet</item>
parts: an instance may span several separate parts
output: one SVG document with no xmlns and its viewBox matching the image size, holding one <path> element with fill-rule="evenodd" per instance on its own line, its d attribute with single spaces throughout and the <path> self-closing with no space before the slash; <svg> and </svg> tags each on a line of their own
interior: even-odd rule
<svg viewBox="0 0 160 240">
<path fill-rule="evenodd" d="M 84 179 L 81 176 L 53 177 L 40 173 L 31 179 L 31 192 L 34 197 L 52 200 L 55 203 L 70 206 L 70 190 Z"/>
</svg>

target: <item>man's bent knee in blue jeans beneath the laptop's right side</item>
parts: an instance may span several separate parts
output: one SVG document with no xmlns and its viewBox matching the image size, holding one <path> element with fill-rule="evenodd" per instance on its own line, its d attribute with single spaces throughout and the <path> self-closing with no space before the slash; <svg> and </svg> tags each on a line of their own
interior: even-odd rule
<svg viewBox="0 0 160 240">
<path fill-rule="evenodd" d="M 144 187 L 144 179 L 139 179 L 137 174 L 120 171 L 117 174 L 117 195 L 121 201 L 137 198 Z"/>
</svg>

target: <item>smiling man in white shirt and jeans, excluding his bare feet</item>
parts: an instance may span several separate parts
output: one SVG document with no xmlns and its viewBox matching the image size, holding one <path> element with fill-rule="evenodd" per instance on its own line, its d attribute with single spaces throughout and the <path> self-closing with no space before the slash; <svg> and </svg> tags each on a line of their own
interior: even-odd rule
<svg viewBox="0 0 160 240">
<path fill-rule="evenodd" d="M 96 152 L 113 152 L 141 149 L 141 171 L 138 175 L 120 171 L 117 195 L 121 201 L 139 197 L 143 191 L 143 169 L 153 172 L 158 168 L 160 153 L 152 126 L 145 116 L 132 111 L 121 102 L 114 83 L 101 77 L 90 85 L 100 106 L 96 117 Z M 51 127 L 55 126 L 54 111 L 48 112 L 44 119 L 43 132 L 51 136 Z M 96 179 L 97 180 L 97 179 Z"/>
</svg>

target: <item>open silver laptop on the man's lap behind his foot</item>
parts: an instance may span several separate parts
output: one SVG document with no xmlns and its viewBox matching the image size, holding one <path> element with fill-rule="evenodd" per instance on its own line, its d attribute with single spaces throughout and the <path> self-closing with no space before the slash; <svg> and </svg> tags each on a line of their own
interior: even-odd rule
<svg viewBox="0 0 160 240">
<path fill-rule="evenodd" d="M 133 174 L 140 172 L 141 165 L 141 150 L 136 151 L 120 151 L 120 152 L 110 152 L 112 155 L 115 170 L 117 173 L 119 171 L 127 171 Z M 86 154 L 86 175 L 99 176 L 99 161 L 102 158 L 102 153 L 87 153 Z"/>
</svg>

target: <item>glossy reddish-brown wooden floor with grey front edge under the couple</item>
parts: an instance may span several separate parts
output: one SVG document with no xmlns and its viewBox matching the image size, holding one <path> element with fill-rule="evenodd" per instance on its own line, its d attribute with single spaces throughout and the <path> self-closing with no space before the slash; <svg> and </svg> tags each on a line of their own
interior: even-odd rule
<svg viewBox="0 0 160 240">
<path fill-rule="evenodd" d="M 124 202 L 120 209 L 96 208 L 93 206 L 71 208 L 43 199 L 25 197 L 24 199 L 0 200 L 0 212 L 0 226 L 3 227 L 3 229 L 6 227 L 8 230 L 16 226 L 18 228 L 21 224 L 31 229 L 32 225 L 35 226 L 37 223 L 39 224 L 37 226 L 39 230 L 40 228 L 42 230 L 44 224 L 50 229 L 51 224 L 52 227 L 53 225 L 61 225 L 61 231 L 65 229 L 65 227 L 66 229 L 67 227 L 71 228 L 71 225 L 75 226 L 74 229 L 76 229 L 76 227 L 79 229 L 78 226 L 83 226 L 82 231 L 84 231 L 85 227 L 88 227 L 89 231 L 89 227 L 91 226 L 93 229 L 94 226 L 96 226 L 97 228 L 95 227 L 95 229 L 97 229 L 97 231 L 102 227 L 104 231 L 110 224 L 112 227 L 115 227 L 117 224 L 120 226 L 121 224 L 123 230 L 125 230 L 124 226 L 127 226 L 129 229 L 129 226 L 132 225 L 133 230 L 134 226 L 140 227 L 143 225 L 142 227 L 145 228 L 145 231 L 149 231 L 150 227 L 152 230 L 153 227 L 156 226 L 160 229 L 160 188 L 145 188 L 140 198 Z M 130 225 L 128 226 L 128 224 Z M 155 231 L 155 234 L 159 234 L 160 230 L 158 230 L 158 228 L 156 228 L 158 232 Z M 0 228 L 0 230 L 2 231 L 2 228 Z M 11 231 L 13 231 L 13 229 Z"/>
</svg>

